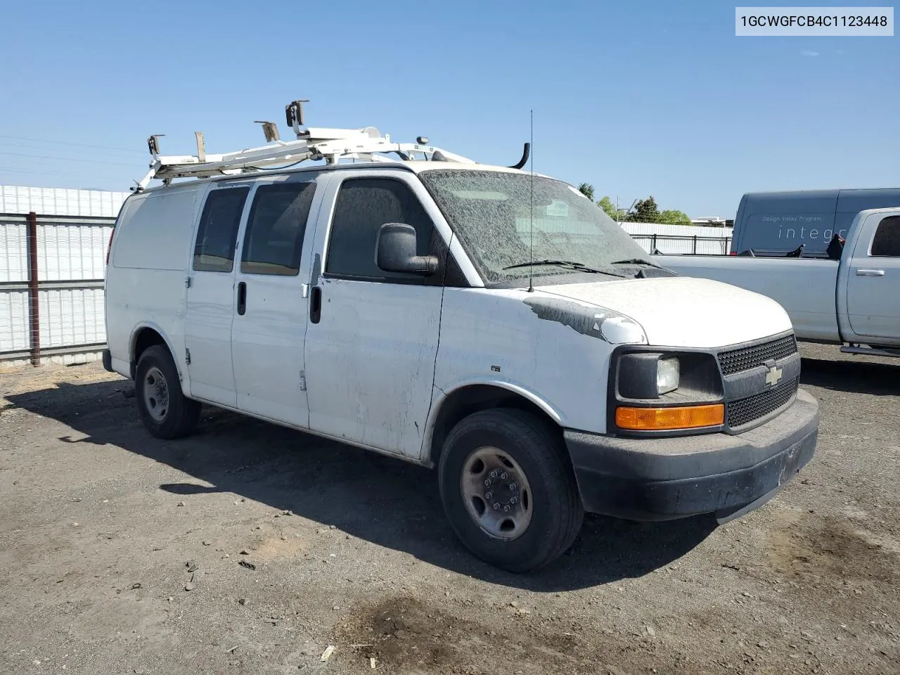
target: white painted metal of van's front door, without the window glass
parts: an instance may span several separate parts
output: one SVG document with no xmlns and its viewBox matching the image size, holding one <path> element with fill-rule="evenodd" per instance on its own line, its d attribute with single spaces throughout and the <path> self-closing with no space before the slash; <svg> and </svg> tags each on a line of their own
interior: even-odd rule
<svg viewBox="0 0 900 675">
<path fill-rule="evenodd" d="M 418 459 L 428 422 L 443 286 L 329 276 L 331 213 L 348 179 L 390 178 L 410 187 L 437 230 L 450 226 L 425 186 L 396 168 L 331 172 L 316 229 L 311 285 L 321 319 L 305 340 L 310 427 L 331 437 Z"/>
</svg>

